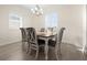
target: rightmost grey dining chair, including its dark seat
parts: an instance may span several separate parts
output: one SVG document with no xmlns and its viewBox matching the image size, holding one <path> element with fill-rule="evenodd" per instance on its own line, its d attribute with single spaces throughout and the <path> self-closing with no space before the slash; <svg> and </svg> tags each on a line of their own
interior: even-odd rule
<svg viewBox="0 0 87 65">
<path fill-rule="evenodd" d="M 48 41 L 48 45 L 51 47 L 54 47 L 54 50 L 55 50 L 56 59 L 62 59 L 61 44 L 62 44 L 64 30 L 65 30 L 65 28 L 61 28 L 58 34 L 55 36 L 55 41 L 53 41 L 53 40 Z"/>
</svg>

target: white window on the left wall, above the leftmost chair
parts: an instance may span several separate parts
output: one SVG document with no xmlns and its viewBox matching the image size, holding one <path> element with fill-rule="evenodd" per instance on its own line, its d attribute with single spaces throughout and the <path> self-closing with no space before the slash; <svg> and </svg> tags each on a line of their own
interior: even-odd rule
<svg viewBox="0 0 87 65">
<path fill-rule="evenodd" d="M 22 28 L 22 18 L 18 14 L 10 13 L 9 14 L 9 28 L 10 29 L 19 29 Z"/>
</svg>

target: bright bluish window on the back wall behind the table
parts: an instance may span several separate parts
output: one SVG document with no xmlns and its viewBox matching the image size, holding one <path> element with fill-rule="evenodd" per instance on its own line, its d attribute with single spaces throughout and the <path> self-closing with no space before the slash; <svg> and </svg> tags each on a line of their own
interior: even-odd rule
<svg viewBox="0 0 87 65">
<path fill-rule="evenodd" d="M 45 15 L 45 28 L 57 26 L 57 13 L 53 12 Z"/>
</svg>

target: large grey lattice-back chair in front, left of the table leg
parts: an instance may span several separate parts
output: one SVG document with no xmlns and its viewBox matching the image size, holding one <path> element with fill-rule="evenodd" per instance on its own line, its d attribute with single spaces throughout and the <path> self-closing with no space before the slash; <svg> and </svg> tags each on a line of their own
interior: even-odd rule
<svg viewBox="0 0 87 65">
<path fill-rule="evenodd" d="M 29 28 L 26 29 L 26 31 L 28 31 L 28 42 L 30 44 L 29 54 L 31 53 L 32 50 L 36 51 L 35 54 L 35 59 L 36 59 L 39 55 L 39 47 L 44 45 L 39 44 L 40 42 L 37 42 L 37 35 L 34 28 Z"/>
</svg>

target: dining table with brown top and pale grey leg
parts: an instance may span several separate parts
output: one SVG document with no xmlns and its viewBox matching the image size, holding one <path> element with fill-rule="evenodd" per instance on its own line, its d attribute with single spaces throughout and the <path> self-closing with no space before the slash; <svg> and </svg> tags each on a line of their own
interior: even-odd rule
<svg viewBox="0 0 87 65">
<path fill-rule="evenodd" d="M 39 40 L 44 40 L 45 41 L 45 47 L 44 47 L 44 53 L 45 53 L 45 59 L 48 59 L 48 40 L 55 39 L 57 36 L 56 33 L 53 32 L 36 32 L 37 39 Z"/>
</svg>

